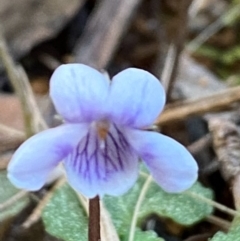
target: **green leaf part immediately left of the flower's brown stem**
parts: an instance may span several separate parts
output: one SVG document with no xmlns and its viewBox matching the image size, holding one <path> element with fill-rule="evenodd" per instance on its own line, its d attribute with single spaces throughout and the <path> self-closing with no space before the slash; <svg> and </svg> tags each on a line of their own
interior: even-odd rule
<svg viewBox="0 0 240 241">
<path fill-rule="evenodd" d="M 55 191 L 42 218 L 47 232 L 58 238 L 66 241 L 87 240 L 87 215 L 68 184 Z"/>
</svg>

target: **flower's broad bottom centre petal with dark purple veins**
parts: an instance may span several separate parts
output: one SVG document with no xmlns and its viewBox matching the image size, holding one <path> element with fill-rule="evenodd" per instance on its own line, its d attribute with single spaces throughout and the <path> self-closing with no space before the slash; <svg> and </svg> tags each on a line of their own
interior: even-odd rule
<svg viewBox="0 0 240 241">
<path fill-rule="evenodd" d="M 138 158 L 114 126 L 104 140 L 92 129 L 64 164 L 70 185 L 88 198 L 121 195 L 138 176 Z"/>
</svg>

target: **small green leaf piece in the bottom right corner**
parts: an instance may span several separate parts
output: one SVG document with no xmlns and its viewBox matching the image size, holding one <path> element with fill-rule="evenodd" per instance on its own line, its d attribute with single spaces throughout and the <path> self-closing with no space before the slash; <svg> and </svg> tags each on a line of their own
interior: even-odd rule
<svg viewBox="0 0 240 241">
<path fill-rule="evenodd" d="M 236 217 L 229 232 L 217 232 L 211 241 L 240 241 L 240 217 Z"/>
</svg>

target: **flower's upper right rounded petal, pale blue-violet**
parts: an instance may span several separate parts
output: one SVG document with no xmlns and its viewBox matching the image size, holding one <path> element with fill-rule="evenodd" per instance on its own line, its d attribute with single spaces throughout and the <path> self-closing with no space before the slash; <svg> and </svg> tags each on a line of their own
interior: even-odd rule
<svg viewBox="0 0 240 241">
<path fill-rule="evenodd" d="M 165 104 L 159 80 L 147 71 L 129 68 L 115 75 L 110 87 L 109 116 L 120 125 L 151 125 Z"/>
</svg>

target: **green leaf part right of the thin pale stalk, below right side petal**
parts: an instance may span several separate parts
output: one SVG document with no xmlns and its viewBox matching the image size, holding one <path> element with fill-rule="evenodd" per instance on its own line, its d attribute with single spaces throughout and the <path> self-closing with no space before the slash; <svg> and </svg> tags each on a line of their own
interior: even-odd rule
<svg viewBox="0 0 240 241">
<path fill-rule="evenodd" d="M 194 192 L 208 199 L 213 198 L 212 191 L 196 182 L 188 192 Z M 192 225 L 210 213 L 213 208 L 201 200 L 194 199 L 186 193 L 169 194 L 164 192 L 156 183 L 152 182 L 145 201 L 143 202 L 139 218 L 154 212 L 162 217 L 169 217 L 177 223 Z"/>
</svg>

